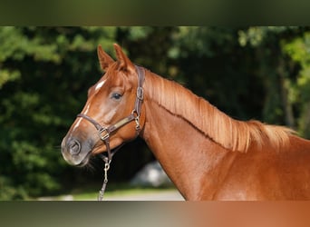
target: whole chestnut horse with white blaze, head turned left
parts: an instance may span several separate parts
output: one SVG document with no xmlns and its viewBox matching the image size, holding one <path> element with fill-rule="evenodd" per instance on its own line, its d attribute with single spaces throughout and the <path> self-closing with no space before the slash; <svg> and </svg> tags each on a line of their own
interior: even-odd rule
<svg viewBox="0 0 310 227">
<path fill-rule="evenodd" d="M 237 121 L 183 86 L 98 47 L 105 74 L 63 138 L 67 163 L 140 137 L 186 200 L 308 200 L 310 141 L 283 126 Z"/>
</svg>

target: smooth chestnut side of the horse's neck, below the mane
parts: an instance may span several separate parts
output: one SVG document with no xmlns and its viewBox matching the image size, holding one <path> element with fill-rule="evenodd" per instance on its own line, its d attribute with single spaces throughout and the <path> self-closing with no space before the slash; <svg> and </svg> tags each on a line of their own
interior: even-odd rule
<svg viewBox="0 0 310 227">
<path fill-rule="evenodd" d="M 191 123 L 160 106 L 149 93 L 154 85 L 149 82 L 150 77 L 157 78 L 154 74 L 146 76 L 145 124 L 141 136 L 186 199 L 211 199 L 236 153 L 213 143 Z M 158 93 L 165 92 L 159 88 Z M 208 194 L 202 194 L 203 191 Z"/>
</svg>

